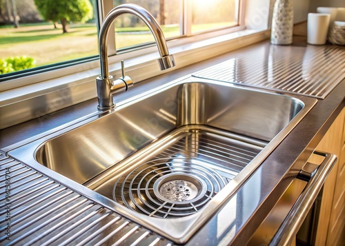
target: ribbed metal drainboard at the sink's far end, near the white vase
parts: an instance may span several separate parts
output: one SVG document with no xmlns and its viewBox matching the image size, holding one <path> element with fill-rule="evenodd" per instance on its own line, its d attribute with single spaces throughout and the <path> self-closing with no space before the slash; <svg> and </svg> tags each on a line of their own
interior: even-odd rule
<svg viewBox="0 0 345 246">
<path fill-rule="evenodd" d="M 324 99 L 344 79 L 345 48 L 307 45 L 301 52 L 297 49 L 271 45 L 268 55 L 248 60 L 248 54 L 240 54 L 193 76 Z"/>
</svg>

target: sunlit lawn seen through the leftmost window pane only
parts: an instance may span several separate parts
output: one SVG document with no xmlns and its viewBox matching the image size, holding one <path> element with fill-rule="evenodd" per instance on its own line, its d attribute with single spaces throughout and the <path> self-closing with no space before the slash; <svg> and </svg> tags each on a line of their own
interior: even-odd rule
<svg viewBox="0 0 345 246">
<path fill-rule="evenodd" d="M 39 66 L 98 53 L 95 26 L 75 25 L 69 31 L 63 34 L 52 24 L 1 28 L 0 59 L 26 55 Z"/>
</svg>

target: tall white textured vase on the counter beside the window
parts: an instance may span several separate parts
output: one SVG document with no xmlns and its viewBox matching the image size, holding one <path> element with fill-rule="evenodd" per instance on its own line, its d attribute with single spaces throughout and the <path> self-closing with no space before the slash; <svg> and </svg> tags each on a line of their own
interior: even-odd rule
<svg viewBox="0 0 345 246">
<path fill-rule="evenodd" d="M 276 0 L 273 8 L 270 43 L 293 43 L 293 0 Z"/>
</svg>

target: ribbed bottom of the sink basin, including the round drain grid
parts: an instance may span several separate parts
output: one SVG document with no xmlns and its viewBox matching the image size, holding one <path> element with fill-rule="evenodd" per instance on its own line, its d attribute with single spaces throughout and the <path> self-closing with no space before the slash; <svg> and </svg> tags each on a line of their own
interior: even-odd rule
<svg viewBox="0 0 345 246">
<path fill-rule="evenodd" d="M 110 168 L 106 173 L 111 175 L 92 181 L 92 189 L 147 216 L 188 216 L 199 212 L 263 147 L 211 127 L 181 127 L 132 161 Z"/>
</svg>

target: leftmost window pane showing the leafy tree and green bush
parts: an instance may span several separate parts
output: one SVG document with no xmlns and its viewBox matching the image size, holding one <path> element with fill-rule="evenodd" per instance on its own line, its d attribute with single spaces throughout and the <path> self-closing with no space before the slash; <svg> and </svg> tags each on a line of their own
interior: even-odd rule
<svg viewBox="0 0 345 246">
<path fill-rule="evenodd" d="M 98 54 L 95 1 L 8 0 L 0 5 L 0 74 Z"/>
</svg>

